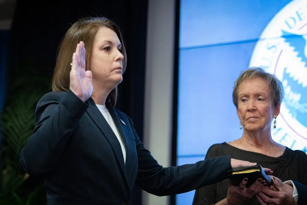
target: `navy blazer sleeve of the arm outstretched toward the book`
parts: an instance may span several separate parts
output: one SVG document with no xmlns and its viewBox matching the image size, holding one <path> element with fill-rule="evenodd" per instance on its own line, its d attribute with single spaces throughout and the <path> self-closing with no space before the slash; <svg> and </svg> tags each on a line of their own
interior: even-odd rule
<svg viewBox="0 0 307 205">
<path fill-rule="evenodd" d="M 138 155 L 135 184 L 150 194 L 166 196 L 192 191 L 226 179 L 226 172 L 231 169 L 230 156 L 164 168 L 144 148 L 135 130 L 134 136 Z"/>
</svg>

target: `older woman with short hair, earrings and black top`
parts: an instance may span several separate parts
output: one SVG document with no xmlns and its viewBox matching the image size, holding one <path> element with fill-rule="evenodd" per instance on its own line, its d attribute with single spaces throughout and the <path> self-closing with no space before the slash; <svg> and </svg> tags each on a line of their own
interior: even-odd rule
<svg viewBox="0 0 307 205">
<path fill-rule="evenodd" d="M 306 184 L 307 155 L 278 144 L 271 136 L 272 122 L 274 128 L 278 126 L 278 114 L 284 97 L 282 83 L 261 68 L 247 69 L 235 81 L 232 96 L 240 120 L 238 128 L 243 128 L 243 134 L 237 140 L 213 144 L 206 159 L 216 156 L 248 159 L 270 168 L 274 176 L 282 180 Z M 197 189 L 193 205 L 259 205 L 258 193 L 250 187 L 235 186 L 225 179 Z M 285 193 L 279 201 L 281 204 L 296 204 L 297 199 Z"/>
</svg>

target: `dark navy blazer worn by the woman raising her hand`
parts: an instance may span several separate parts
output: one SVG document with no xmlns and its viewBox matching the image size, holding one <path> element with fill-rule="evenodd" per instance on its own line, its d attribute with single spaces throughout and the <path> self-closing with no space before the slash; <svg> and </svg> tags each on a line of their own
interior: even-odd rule
<svg viewBox="0 0 307 205">
<path fill-rule="evenodd" d="M 230 156 L 163 168 L 144 148 L 130 118 L 106 106 L 126 147 L 92 98 L 71 90 L 50 92 L 37 103 L 35 128 L 20 154 L 29 175 L 45 179 L 48 205 L 128 204 L 134 184 L 158 196 L 180 194 L 227 178 Z"/>
</svg>

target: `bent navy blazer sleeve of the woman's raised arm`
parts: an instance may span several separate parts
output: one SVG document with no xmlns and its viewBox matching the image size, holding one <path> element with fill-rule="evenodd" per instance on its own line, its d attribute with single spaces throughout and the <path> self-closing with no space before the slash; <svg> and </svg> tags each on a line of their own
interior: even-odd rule
<svg viewBox="0 0 307 205">
<path fill-rule="evenodd" d="M 29 175 L 44 175 L 57 163 L 87 107 L 71 90 L 50 92 L 38 101 L 33 134 L 20 154 Z"/>
</svg>

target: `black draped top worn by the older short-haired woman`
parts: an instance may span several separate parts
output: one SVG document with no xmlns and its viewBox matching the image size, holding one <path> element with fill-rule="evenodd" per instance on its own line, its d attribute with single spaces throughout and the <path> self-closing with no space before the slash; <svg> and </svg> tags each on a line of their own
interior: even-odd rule
<svg viewBox="0 0 307 205">
<path fill-rule="evenodd" d="M 270 157 L 256 152 L 249 152 L 235 148 L 227 143 L 212 145 L 206 155 L 206 159 L 215 156 L 231 156 L 238 160 L 256 162 L 262 167 L 270 168 L 274 171 L 274 176 L 279 179 L 294 180 L 302 184 L 307 184 L 307 155 L 299 150 L 286 148 L 280 157 Z M 227 197 L 228 179 L 219 183 L 208 185 L 197 189 L 195 192 L 193 205 L 211 205 Z M 298 198 L 300 198 L 298 196 Z M 257 198 L 247 200 L 244 205 L 259 205 Z"/>
</svg>

